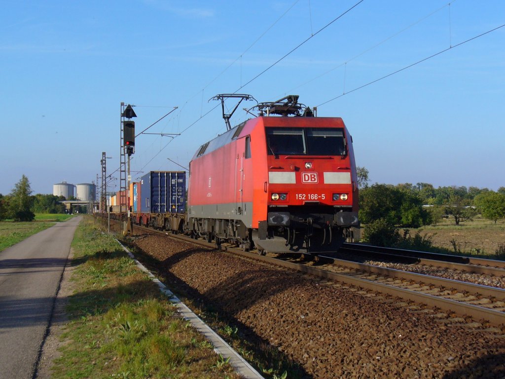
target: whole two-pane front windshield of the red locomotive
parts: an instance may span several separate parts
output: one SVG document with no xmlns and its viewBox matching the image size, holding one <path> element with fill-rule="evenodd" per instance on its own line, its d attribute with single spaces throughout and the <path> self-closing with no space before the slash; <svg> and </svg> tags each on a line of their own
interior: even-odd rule
<svg viewBox="0 0 505 379">
<path fill-rule="evenodd" d="M 266 128 L 269 155 L 344 155 L 343 129 Z"/>
</svg>

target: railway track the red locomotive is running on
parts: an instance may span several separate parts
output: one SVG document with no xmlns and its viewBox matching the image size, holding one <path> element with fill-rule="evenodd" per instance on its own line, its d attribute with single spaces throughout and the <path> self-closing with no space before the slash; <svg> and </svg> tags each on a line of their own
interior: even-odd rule
<svg viewBox="0 0 505 379">
<path fill-rule="evenodd" d="M 214 243 L 194 240 L 180 234 L 170 234 L 141 226 L 134 227 L 166 234 L 171 238 L 205 247 L 216 247 Z M 446 312 L 455 312 L 460 316 L 469 316 L 481 324 L 489 323 L 494 327 L 505 325 L 505 290 L 503 289 L 337 258 L 321 257 L 318 262 L 314 262 L 301 259 L 299 255 L 298 258 L 294 258 L 293 255 L 260 256 L 226 244 L 222 244 L 220 248 L 242 257 L 356 286 L 366 291 L 425 304 Z"/>
</svg>

